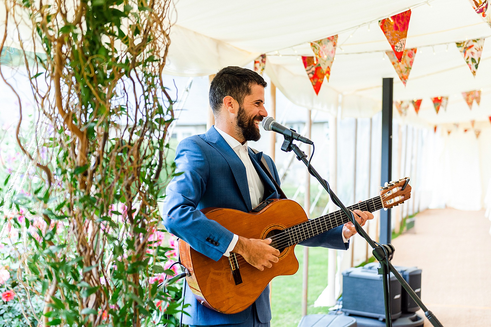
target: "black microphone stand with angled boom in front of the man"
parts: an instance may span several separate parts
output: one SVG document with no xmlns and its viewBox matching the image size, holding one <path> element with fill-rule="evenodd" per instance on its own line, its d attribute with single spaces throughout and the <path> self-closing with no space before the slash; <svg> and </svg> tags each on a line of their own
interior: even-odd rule
<svg viewBox="0 0 491 327">
<path fill-rule="evenodd" d="M 291 130 L 292 132 L 295 132 L 294 130 Z M 435 327 L 443 327 L 443 325 L 436 319 L 436 316 L 428 310 L 428 308 L 424 305 L 424 303 L 419 299 L 419 297 L 414 293 L 412 288 L 409 286 L 408 282 L 401 276 L 401 274 L 392 266 L 392 263 L 390 260 L 392 259 L 394 255 L 395 248 L 391 244 L 379 244 L 374 242 L 370 236 L 361 228 L 361 226 L 358 224 L 358 222 L 355 219 L 355 216 L 353 216 L 353 213 L 349 211 L 345 205 L 339 200 L 339 198 L 334 194 L 334 192 L 330 189 L 329 183 L 321 177 L 321 175 L 315 170 L 314 167 L 312 167 L 311 164 L 309 164 L 307 160 L 307 155 L 300 150 L 300 148 L 293 143 L 293 137 L 292 134 L 290 135 L 284 135 L 285 140 L 283 141 L 283 144 L 281 145 L 281 150 L 285 152 L 290 152 L 293 151 L 297 155 L 297 159 L 301 162 L 303 162 L 309 171 L 309 173 L 317 178 L 319 183 L 324 187 L 324 189 L 327 191 L 327 193 L 330 195 L 330 198 L 332 199 L 332 202 L 334 202 L 335 205 L 337 205 L 341 210 L 350 218 L 350 220 L 353 222 L 355 225 L 356 231 L 358 234 L 363 237 L 368 244 L 373 248 L 373 255 L 374 257 L 379 261 L 381 267 L 379 268 L 379 274 L 382 274 L 382 281 L 383 281 L 383 300 L 384 300 L 384 305 L 385 305 L 385 326 L 386 327 L 392 327 L 392 317 L 391 317 L 391 311 L 390 311 L 390 273 L 393 273 L 394 276 L 397 278 L 399 283 L 401 283 L 402 287 L 408 292 L 410 297 L 418 304 L 418 306 L 425 312 L 426 318 L 430 321 L 430 323 L 435 326 Z M 407 183 L 406 183 L 407 185 Z"/>
</svg>

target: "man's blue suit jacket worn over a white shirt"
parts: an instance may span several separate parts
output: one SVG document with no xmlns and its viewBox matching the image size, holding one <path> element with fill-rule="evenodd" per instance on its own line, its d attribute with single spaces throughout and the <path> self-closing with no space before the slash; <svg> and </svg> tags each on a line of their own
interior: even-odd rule
<svg viewBox="0 0 491 327">
<path fill-rule="evenodd" d="M 273 182 L 260 166 L 263 153 L 254 154 L 249 149 L 251 162 L 256 168 L 265 186 L 263 200 L 279 198 Z M 276 180 L 280 183 L 273 160 L 264 155 Z M 164 200 L 164 225 L 169 232 L 183 239 L 192 248 L 213 260 L 218 261 L 226 251 L 233 233 L 218 222 L 209 220 L 200 209 L 221 207 L 249 212 L 251 206 L 246 167 L 228 145 L 225 139 L 212 127 L 206 134 L 183 139 L 176 150 L 176 172 L 182 173 L 169 183 Z M 301 245 L 324 246 L 347 249 L 342 240 L 342 226 L 336 227 L 308 239 Z M 210 244 L 207 238 L 217 241 Z M 187 288 L 185 303 L 190 303 L 184 315 L 183 323 L 189 325 L 239 324 L 250 315 L 253 307 L 262 323 L 271 320 L 269 287 L 246 310 L 236 314 L 223 314 L 200 304 Z"/>
</svg>

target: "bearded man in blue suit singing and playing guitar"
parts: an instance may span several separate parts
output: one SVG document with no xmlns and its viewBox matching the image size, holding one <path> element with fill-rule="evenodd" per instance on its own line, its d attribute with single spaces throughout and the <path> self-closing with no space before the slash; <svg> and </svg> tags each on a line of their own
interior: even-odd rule
<svg viewBox="0 0 491 327">
<path fill-rule="evenodd" d="M 200 211 L 209 207 L 249 212 L 262 201 L 280 197 L 265 172 L 264 162 L 277 185 L 280 180 L 272 159 L 255 153 L 247 141 L 261 137 L 259 123 L 268 115 L 264 108 L 267 83 L 257 73 L 240 67 L 221 69 L 210 85 L 210 105 L 216 124 L 206 134 L 182 140 L 176 150 L 176 177 L 167 187 L 164 225 L 167 230 L 205 256 L 218 261 L 230 252 L 241 254 L 259 271 L 278 262 L 279 251 L 271 239 L 248 239 L 235 235 Z M 265 161 L 264 161 L 265 159 Z M 261 163 L 263 161 L 263 163 Z M 364 225 L 373 219 L 368 211 L 355 210 Z M 233 218 L 231 218 L 233 219 Z M 346 250 L 356 233 L 351 222 L 305 240 L 300 245 Z M 183 322 L 190 326 L 270 326 L 269 287 L 246 310 L 224 314 L 205 307 L 186 292 L 191 307 Z"/>
</svg>

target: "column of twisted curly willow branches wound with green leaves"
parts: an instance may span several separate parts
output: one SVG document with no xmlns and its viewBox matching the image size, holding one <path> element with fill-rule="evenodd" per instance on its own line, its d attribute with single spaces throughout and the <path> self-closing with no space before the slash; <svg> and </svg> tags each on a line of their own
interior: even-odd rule
<svg viewBox="0 0 491 327">
<path fill-rule="evenodd" d="M 21 285 L 47 304 L 42 315 L 33 314 L 44 326 L 146 325 L 153 300 L 167 297 L 148 287 L 148 277 L 166 260 L 149 240 L 170 177 L 164 152 L 176 99 L 162 72 L 173 4 L 4 2 L 35 108 L 49 122 L 26 147 L 21 99 L 11 86 L 19 98 L 18 145 L 45 181 L 34 191 L 29 181 L 29 242 L 18 251 Z M 30 35 L 21 34 L 26 26 Z M 5 40 L 6 32 L 0 50 Z M 33 63 L 24 48 L 29 43 L 38 53 Z"/>
</svg>

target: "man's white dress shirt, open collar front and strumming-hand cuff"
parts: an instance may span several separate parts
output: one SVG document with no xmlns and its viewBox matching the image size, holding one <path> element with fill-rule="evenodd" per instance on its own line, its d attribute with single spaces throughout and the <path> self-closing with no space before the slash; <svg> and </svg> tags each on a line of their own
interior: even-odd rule
<svg viewBox="0 0 491 327">
<path fill-rule="evenodd" d="M 234 150 L 235 154 L 237 154 L 239 159 L 246 167 L 247 185 L 249 186 L 250 203 L 252 204 L 252 208 L 257 207 L 258 204 L 261 203 L 263 199 L 264 184 L 261 178 L 259 177 L 259 174 L 257 173 L 256 169 L 252 165 L 252 162 L 250 161 L 249 151 L 247 149 L 247 141 L 246 143 L 241 144 L 241 142 L 236 140 L 234 137 L 228 135 L 227 133 L 223 132 L 217 126 L 215 126 L 215 129 L 225 139 L 228 145 L 230 145 L 232 150 Z M 234 237 L 232 238 L 230 245 L 228 245 L 227 250 L 225 251 L 225 253 L 223 253 L 224 256 L 228 257 L 230 255 L 230 251 L 234 249 L 235 245 L 237 244 L 237 241 L 239 241 L 239 236 L 234 234 Z"/>
</svg>

